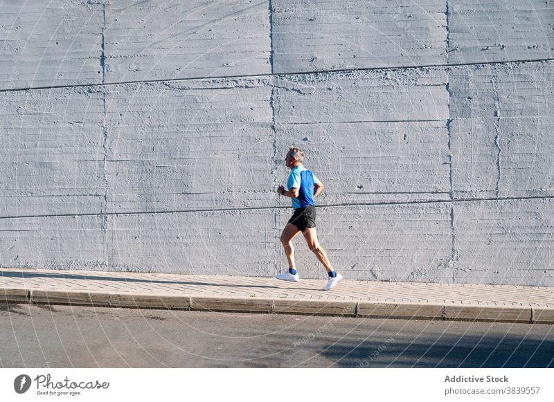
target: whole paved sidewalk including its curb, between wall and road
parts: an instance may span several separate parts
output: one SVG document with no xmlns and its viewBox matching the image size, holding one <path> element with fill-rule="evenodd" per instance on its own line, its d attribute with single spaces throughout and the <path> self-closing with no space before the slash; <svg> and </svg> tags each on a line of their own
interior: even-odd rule
<svg viewBox="0 0 554 402">
<path fill-rule="evenodd" d="M 0 302 L 554 324 L 554 287 L 0 268 Z"/>
</svg>

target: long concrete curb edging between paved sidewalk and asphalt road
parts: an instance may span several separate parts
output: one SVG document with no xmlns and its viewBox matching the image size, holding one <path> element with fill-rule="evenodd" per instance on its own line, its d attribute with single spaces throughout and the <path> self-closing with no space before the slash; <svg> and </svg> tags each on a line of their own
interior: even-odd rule
<svg viewBox="0 0 554 402">
<path fill-rule="evenodd" d="M 346 302 L 343 300 L 321 301 L 301 298 L 235 298 L 45 289 L 0 289 L 0 302 L 135 309 L 394 318 L 404 320 L 554 324 L 553 308 L 532 307 L 530 305 L 502 307 L 479 304 L 427 304 L 421 302 Z"/>
</svg>

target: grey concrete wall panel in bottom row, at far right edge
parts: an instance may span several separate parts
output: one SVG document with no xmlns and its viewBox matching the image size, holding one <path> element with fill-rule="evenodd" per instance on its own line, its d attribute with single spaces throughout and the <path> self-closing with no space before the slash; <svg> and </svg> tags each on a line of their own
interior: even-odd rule
<svg viewBox="0 0 554 402">
<path fill-rule="evenodd" d="M 551 284 L 553 212 L 553 199 L 455 205 L 454 282 L 480 277 L 483 283 Z"/>
</svg>

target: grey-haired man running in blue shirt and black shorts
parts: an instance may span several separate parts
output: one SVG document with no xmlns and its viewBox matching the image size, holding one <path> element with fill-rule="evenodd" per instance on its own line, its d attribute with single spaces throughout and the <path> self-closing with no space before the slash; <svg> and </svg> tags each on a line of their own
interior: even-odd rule
<svg viewBox="0 0 554 402">
<path fill-rule="evenodd" d="M 307 170 L 303 165 L 304 152 L 297 147 L 290 147 L 285 158 L 285 165 L 289 167 L 292 172 L 289 174 L 287 180 L 287 188 L 285 190 L 283 185 L 279 185 L 277 192 L 285 197 L 290 197 L 292 201 L 292 208 L 294 214 L 289 219 L 287 226 L 283 229 L 281 234 L 281 244 L 285 248 L 285 254 L 289 261 L 289 271 L 277 275 L 278 280 L 286 280 L 289 282 L 298 282 L 298 273 L 296 272 L 296 264 L 294 262 L 294 247 L 292 247 L 292 239 L 302 232 L 304 239 L 306 239 L 307 246 L 316 255 L 317 259 L 323 264 L 325 270 L 329 275 L 329 280 L 324 291 L 334 288 L 340 280 L 342 275 L 336 273 L 327 258 L 327 253 L 319 245 L 317 241 L 316 233 L 316 207 L 314 205 L 314 199 L 323 190 L 323 184 L 317 179 L 310 170 Z"/>
</svg>

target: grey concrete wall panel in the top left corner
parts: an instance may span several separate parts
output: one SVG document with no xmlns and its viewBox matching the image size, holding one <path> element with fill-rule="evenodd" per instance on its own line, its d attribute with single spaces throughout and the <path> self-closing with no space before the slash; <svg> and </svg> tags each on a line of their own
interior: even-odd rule
<svg viewBox="0 0 554 402">
<path fill-rule="evenodd" d="M 2 1 L 0 89 L 102 82 L 101 1 Z"/>
</svg>

